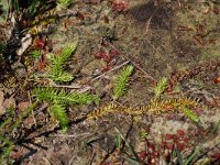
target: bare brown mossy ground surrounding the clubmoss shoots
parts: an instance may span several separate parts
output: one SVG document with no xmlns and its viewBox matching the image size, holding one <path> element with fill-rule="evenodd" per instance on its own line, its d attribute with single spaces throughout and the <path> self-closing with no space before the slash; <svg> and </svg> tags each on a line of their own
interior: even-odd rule
<svg viewBox="0 0 220 165">
<path fill-rule="evenodd" d="M 193 109 L 199 117 L 199 123 L 193 122 L 183 112 L 141 117 L 109 113 L 97 120 L 81 121 L 85 114 L 96 109 L 96 105 L 74 106 L 68 109 L 72 124 L 64 134 L 50 121 L 45 111 L 40 111 L 30 117 L 32 129 L 24 127 L 28 130 L 24 131 L 26 142 L 20 143 L 28 146 L 18 145 L 12 153 L 20 164 L 165 164 L 167 152 L 172 148 L 168 144 L 162 146 L 162 142 L 173 142 L 167 134 L 186 140 L 183 142 L 184 157 L 195 146 L 198 148 L 195 164 L 219 163 L 215 155 L 220 154 L 220 130 L 217 127 L 215 134 L 211 132 L 220 120 L 220 86 L 217 79 L 220 76 L 220 4 L 199 0 L 133 0 L 128 3 L 128 10 L 123 12 L 113 10 L 112 2 L 106 0 L 84 0 L 68 10 L 58 11 L 61 14 L 78 12 L 75 16 L 59 19 L 47 36 L 53 42 L 53 52 L 79 38 L 68 65 L 76 79 L 68 87 L 79 84 L 81 88 L 69 90 L 91 91 L 101 97 L 101 105 L 109 102 L 117 74 L 130 64 L 135 73 L 127 95 L 118 100 L 119 105 L 148 105 L 156 82 L 167 77 L 169 85 L 164 98 L 185 96 L 199 99 L 198 107 Z M 110 56 L 111 51 L 117 52 L 114 56 Z M 100 52 L 110 57 L 98 58 Z M 34 66 L 26 66 L 29 75 L 36 72 L 38 63 L 32 64 Z M 29 84 L 29 78 L 25 81 Z M 12 92 L 6 87 L 2 91 L 4 95 Z M 22 88 L 14 94 L 16 106 L 29 101 Z M 33 129 L 33 119 L 42 121 L 44 127 Z M 131 143 L 129 146 L 122 142 L 120 148 L 117 147 L 118 130 L 125 142 Z M 147 135 L 141 138 L 144 132 Z M 178 142 L 182 143 L 182 140 L 178 139 Z M 155 148 L 151 148 L 150 143 Z M 154 155 L 157 152 L 160 155 Z M 131 162 L 130 158 L 136 161 Z"/>
</svg>

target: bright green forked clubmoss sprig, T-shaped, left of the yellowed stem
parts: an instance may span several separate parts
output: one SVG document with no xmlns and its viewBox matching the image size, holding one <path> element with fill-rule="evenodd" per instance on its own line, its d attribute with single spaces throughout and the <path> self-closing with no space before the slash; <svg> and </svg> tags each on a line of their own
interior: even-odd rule
<svg viewBox="0 0 220 165">
<path fill-rule="evenodd" d="M 61 128 L 66 130 L 68 127 L 68 117 L 66 114 L 67 106 L 70 105 L 88 105 L 92 101 L 99 102 L 99 98 L 89 94 L 69 94 L 64 89 L 58 90 L 54 88 L 35 88 L 33 96 L 40 100 L 45 101 L 50 106 L 50 114 L 53 119 L 59 121 Z"/>
</svg>

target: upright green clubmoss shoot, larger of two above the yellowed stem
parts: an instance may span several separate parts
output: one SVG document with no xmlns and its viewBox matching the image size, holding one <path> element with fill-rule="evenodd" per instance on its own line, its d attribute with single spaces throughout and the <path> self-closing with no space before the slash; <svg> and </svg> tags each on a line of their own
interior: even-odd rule
<svg viewBox="0 0 220 165">
<path fill-rule="evenodd" d="M 129 65 L 118 76 L 113 88 L 113 100 L 117 100 L 120 97 L 122 97 L 128 90 L 129 78 L 133 73 L 133 69 L 134 67 Z"/>
</svg>

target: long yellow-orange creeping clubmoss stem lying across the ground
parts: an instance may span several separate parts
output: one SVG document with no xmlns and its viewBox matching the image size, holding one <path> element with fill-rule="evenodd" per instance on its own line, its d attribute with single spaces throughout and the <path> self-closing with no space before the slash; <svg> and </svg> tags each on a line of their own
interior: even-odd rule
<svg viewBox="0 0 220 165">
<path fill-rule="evenodd" d="M 87 119 L 94 120 L 107 116 L 109 113 L 122 113 L 125 116 L 142 116 L 142 114 L 160 116 L 162 113 L 167 113 L 167 112 L 184 111 L 184 113 L 187 113 L 186 116 L 189 119 L 197 121 L 198 117 L 196 114 L 194 114 L 191 111 L 186 112 L 186 107 L 196 107 L 196 106 L 198 106 L 197 100 L 188 99 L 185 97 L 167 98 L 165 100 L 154 100 L 146 106 L 141 106 L 138 108 L 123 107 L 117 105 L 114 101 L 111 101 L 110 103 L 100 106 L 92 112 L 88 113 Z"/>
</svg>

